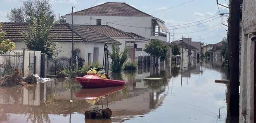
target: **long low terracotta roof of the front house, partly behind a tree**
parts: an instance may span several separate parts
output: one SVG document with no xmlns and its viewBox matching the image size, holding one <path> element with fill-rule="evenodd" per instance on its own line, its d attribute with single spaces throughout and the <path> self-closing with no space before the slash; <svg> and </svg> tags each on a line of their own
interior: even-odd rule
<svg viewBox="0 0 256 123">
<path fill-rule="evenodd" d="M 21 32 L 30 32 L 28 23 L 2 23 L 2 30 L 7 34 L 5 39 L 11 41 L 23 41 L 24 37 L 21 36 Z M 55 35 L 56 42 L 71 42 L 72 41 L 72 27 L 70 24 L 55 24 L 52 27 L 50 35 Z M 120 42 L 104 36 L 98 32 L 90 30 L 88 28 L 74 26 L 74 42 L 81 41 L 93 41 L 93 42 L 109 42 L 121 44 Z"/>
</svg>

